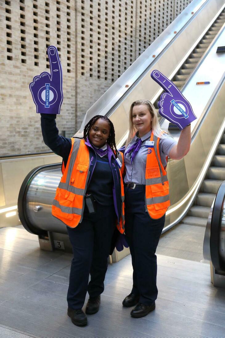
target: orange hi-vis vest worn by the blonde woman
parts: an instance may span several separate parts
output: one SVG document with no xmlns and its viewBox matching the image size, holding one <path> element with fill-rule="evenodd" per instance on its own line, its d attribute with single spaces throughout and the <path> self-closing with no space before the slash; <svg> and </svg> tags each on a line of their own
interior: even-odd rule
<svg viewBox="0 0 225 338">
<path fill-rule="evenodd" d="M 154 147 L 148 149 L 145 171 L 145 202 L 148 214 L 153 219 L 162 217 L 170 206 L 169 182 L 160 159 L 159 140 L 152 131 L 150 141 L 154 141 Z"/>
</svg>

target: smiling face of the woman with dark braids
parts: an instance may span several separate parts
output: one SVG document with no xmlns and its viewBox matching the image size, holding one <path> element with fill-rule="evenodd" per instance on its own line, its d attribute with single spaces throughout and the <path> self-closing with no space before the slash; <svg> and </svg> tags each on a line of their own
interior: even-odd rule
<svg viewBox="0 0 225 338">
<path fill-rule="evenodd" d="M 98 119 L 91 127 L 89 132 L 89 140 L 95 147 L 101 148 L 104 144 L 106 144 L 109 133 L 110 126 L 108 122 Z"/>
</svg>

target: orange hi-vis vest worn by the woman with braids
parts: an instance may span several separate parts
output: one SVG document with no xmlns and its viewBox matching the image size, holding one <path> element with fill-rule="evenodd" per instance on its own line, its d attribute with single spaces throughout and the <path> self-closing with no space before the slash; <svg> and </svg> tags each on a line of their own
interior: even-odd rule
<svg viewBox="0 0 225 338">
<path fill-rule="evenodd" d="M 83 218 L 84 196 L 89 179 L 90 155 L 89 148 L 84 139 L 71 138 L 72 146 L 66 168 L 62 166 L 62 177 L 56 189 L 55 198 L 52 202 L 52 215 L 74 228 Z M 119 154 L 123 164 L 123 155 Z M 124 188 L 122 173 L 120 172 L 121 184 L 121 218 L 117 222 L 118 230 L 124 233 Z"/>
</svg>

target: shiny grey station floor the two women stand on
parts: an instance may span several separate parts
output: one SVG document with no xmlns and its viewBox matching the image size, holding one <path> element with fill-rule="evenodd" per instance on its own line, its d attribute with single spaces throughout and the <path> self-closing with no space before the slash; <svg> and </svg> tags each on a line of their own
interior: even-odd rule
<svg viewBox="0 0 225 338">
<path fill-rule="evenodd" d="M 225 336 L 225 290 L 211 285 L 209 264 L 163 255 L 153 313 L 135 319 L 121 305 L 132 285 L 127 256 L 108 267 L 99 312 L 76 327 L 66 303 L 71 257 L 40 250 L 37 237 L 21 228 L 0 229 L 1 338 Z"/>
</svg>

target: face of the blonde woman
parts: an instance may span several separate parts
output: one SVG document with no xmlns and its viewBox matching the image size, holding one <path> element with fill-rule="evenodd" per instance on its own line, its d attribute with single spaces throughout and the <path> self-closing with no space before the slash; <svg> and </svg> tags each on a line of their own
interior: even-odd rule
<svg viewBox="0 0 225 338">
<path fill-rule="evenodd" d="M 139 132 L 139 137 L 144 136 L 152 129 L 152 116 L 146 104 L 135 105 L 132 110 L 132 121 Z"/>
</svg>

